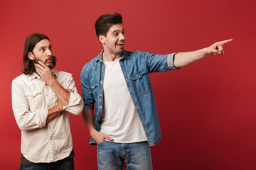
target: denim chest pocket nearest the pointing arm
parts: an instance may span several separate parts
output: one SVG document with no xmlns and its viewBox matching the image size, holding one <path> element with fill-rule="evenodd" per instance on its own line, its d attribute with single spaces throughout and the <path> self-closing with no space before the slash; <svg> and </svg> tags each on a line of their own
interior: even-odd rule
<svg viewBox="0 0 256 170">
<path fill-rule="evenodd" d="M 134 84 L 135 90 L 139 96 L 150 92 L 151 84 L 149 74 L 146 72 L 146 69 L 137 72 L 130 78 L 132 79 L 132 83 Z"/>
</svg>

